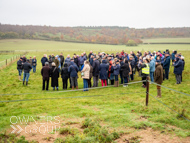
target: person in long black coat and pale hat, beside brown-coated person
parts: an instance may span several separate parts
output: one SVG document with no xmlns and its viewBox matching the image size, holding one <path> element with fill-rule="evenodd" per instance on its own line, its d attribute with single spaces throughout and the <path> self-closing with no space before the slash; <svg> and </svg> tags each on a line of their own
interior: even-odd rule
<svg viewBox="0 0 190 143">
<path fill-rule="evenodd" d="M 58 89 L 59 84 L 58 84 L 58 78 L 59 78 L 59 70 L 56 67 L 55 63 L 52 63 L 52 68 L 50 71 L 50 76 L 51 76 L 51 87 L 53 87 L 53 90 L 55 90 L 55 87 Z"/>
</svg>

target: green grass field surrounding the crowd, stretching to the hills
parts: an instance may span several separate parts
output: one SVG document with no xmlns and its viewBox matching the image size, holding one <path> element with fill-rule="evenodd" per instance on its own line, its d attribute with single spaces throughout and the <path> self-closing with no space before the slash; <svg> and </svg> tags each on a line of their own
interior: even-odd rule
<svg viewBox="0 0 190 143">
<path fill-rule="evenodd" d="M 105 142 L 101 140 L 101 137 L 99 137 L 99 134 L 104 134 L 103 132 L 105 130 L 110 133 L 109 135 L 106 134 L 106 141 L 109 141 L 110 138 L 110 142 L 113 142 L 116 140 L 116 138 L 113 138 L 114 135 L 111 134 L 113 132 L 119 134 L 118 138 L 122 138 L 125 136 L 128 137 L 128 135 L 133 133 L 135 136 L 135 133 L 138 134 L 140 131 L 146 132 L 148 129 L 151 129 L 152 132 L 158 132 L 158 136 L 160 136 L 160 133 L 163 135 L 168 135 L 170 140 L 172 140 L 174 136 L 177 136 L 177 140 L 179 138 L 181 140 L 181 137 L 183 137 L 185 142 L 188 142 L 190 139 L 190 122 L 184 120 L 178 114 L 163 106 L 152 96 L 149 97 L 149 106 L 146 107 L 146 91 L 145 89 L 141 88 L 141 83 L 131 84 L 127 88 L 120 86 L 118 88 L 107 87 L 92 89 L 88 92 L 62 92 L 61 78 L 59 78 L 59 92 L 53 91 L 51 88 L 48 92 L 41 90 L 42 77 L 40 75 L 40 59 L 44 53 L 54 53 L 56 55 L 60 54 L 62 51 L 64 56 L 66 56 L 67 54 L 72 55 L 73 53 L 80 54 L 83 51 L 88 53 L 90 50 L 95 52 L 104 51 L 115 53 L 116 51 L 120 52 L 121 50 L 130 52 L 130 50 L 157 51 L 165 49 L 178 50 L 181 52 L 185 56 L 186 65 L 185 71 L 183 73 L 182 84 L 175 85 L 175 77 L 172 67 L 170 69 L 170 79 L 168 81 L 164 81 L 163 85 L 190 94 L 190 45 L 139 45 L 137 47 L 126 47 L 121 45 L 113 46 L 98 44 L 77 44 L 54 41 L 1 40 L 0 51 L 27 50 L 27 57 L 35 55 L 38 60 L 38 65 L 37 73 L 31 72 L 28 87 L 22 86 L 22 82 L 18 80 L 16 63 L 1 70 L 0 101 L 43 98 L 60 99 L 0 103 L 0 131 L 10 131 L 11 116 L 32 116 L 37 121 L 41 120 L 39 116 L 59 116 L 62 123 L 61 128 L 63 129 L 65 129 L 65 124 L 68 125 L 69 123 L 76 120 L 77 122 L 75 124 L 79 126 L 83 126 L 84 124 L 91 125 L 91 128 L 86 128 L 82 131 L 81 128 L 78 128 L 78 126 L 74 126 L 74 128 L 76 128 L 78 131 L 74 133 L 74 135 L 66 136 L 66 140 L 68 142 L 77 142 L 77 139 L 80 141 L 83 140 L 84 142 Z M 141 80 L 141 78 L 136 74 L 135 81 L 139 80 Z M 82 87 L 82 79 L 79 78 L 79 88 L 82 89 Z M 156 86 L 153 84 L 150 85 L 150 93 L 154 96 L 157 94 Z M 183 115 L 190 120 L 189 96 L 182 95 L 164 88 L 162 88 L 162 96 L 163 97 L 159 100 L 180 114 L 182 114 L 182 111 L 185 109 Z M 84 121 L 85 119 L 86 121 Z M 91 124 L 91 122 L 96 122 L 101 126 L 94 123 Z M 70 128 L 72 129 L 72 126 L 69 126 L 69 129 Z M 37 134 L 34 136 L 43 138 Z M 34 136 L 31 135 L 28 138 L 31 139 Z M 49 136 L 53 135 L 46 135 L 46 137 Z M 58 137 L 63 138 L 65 136 Z M 38 140 L 38 138 L 36 140 Z M 35 140 L 35 138 L 32 139 Z M 138 142 L 139 140 L 143 141 L 145 140 L 145 137 L 141 139 L 135 139 L 134 142 Z M 56 142 L 61 142 L 61 139 L 57 139 Z"/>
</svg>

